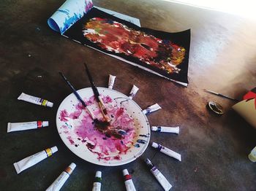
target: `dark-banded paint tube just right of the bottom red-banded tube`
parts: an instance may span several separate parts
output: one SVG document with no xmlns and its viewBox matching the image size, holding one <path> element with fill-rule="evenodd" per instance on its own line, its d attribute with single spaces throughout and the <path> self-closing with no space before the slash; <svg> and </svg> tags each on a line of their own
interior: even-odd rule
<svg viewBox="0 0 256 191">
<path fill-rule="evenodd" d="M 151 161 L 147 158 L 145 160 L 146 164 L 148 165 L 148 168 L 151 171 L 151 174 L 154 175 L 154 177 L 157 179 L 157 181 L 161 184 L 161 186 L 164 188 L 165 191 L 170 190 L 171 187 L 173 187 L 170 182 L 167 181 L 164 175 L 157 169 L 157 167 L 151 163 Z"/>
</svg>

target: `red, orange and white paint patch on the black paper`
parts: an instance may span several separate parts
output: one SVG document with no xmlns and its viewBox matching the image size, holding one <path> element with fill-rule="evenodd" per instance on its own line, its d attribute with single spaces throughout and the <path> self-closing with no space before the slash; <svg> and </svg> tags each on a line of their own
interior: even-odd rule
<svg viewBox="0 0 256 191">
<path fill-rule="evenodd" d="M 138 58 L 167 74 L 179 73 L 181 69 L 177 66 L 185 58 L 184 47 L 110 19 L 91 18 L 84 26 L 83 35 L 104 50 Z"/>
</svg>

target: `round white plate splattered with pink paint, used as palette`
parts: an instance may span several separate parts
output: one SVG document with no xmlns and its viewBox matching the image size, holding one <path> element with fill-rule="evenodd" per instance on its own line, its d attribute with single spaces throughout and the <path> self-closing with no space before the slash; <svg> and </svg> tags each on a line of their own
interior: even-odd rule
<svg viewBox="0 0 256 191">
<path fill-rule="evenodd" d="M 56 114 L 59 135 L 75 155 L 90 163 L 105 166 L 130 163 L 148 147 L 148 119 L 140 106 L 129 100 L 127 95 L 105 87 L 97 88 L 108 109 L 111 130 L 114 129 L 121 137 L 97 129 L 89 113 L 73 93 L 61 102 Z M 97 119 L 102 120 L 91 87 L 78 90 L 78 94 Z"/>
</svg>

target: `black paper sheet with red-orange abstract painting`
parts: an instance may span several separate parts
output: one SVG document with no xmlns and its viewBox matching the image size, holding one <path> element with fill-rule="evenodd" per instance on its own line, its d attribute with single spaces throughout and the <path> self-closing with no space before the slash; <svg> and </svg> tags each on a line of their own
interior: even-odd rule
<svg viewBox="0 0 256 191">
<path fill-rule="evenodd" d="M 188 85 L 190 30 L 167 33 L 141 28 L 95 7 L 68 28 L 61 34 L 75 42 Z"/>
</svg>

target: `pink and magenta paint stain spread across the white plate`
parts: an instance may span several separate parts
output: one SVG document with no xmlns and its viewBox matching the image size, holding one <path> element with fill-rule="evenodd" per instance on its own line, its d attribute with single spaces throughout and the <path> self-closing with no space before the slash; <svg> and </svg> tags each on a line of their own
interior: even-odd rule
<svg viewBox="0 0 256 191">
<path fill-rule="evenodd" d="M 86 109 L 82 104 L 74 105 L 74 112 L 66 109 L 59 114 L 59 119 L 64 122 L 62 132 L 67 134 L 69 143 L 74 147 L 87 147 L 89 151 L 97 155 L 98 160 L 121 160 L 121 155 L 126 155 L 132 147 L 136 129 L 139 128 L 135 120 L 127 113 L 126 109 L 117 106 L 109 96 L 103 97 L 108 107 L 110 127 L 117 132 L 121 131 L 121 137 L 111 136 L 98 130 Z M 97 106 L 94 96 L 85 100 L 88 106 L 94 106 L 94 114 L 102 120 L 102 114 Z M 61 132 L 61 133 L 62 133 Z"/>
</svg>

